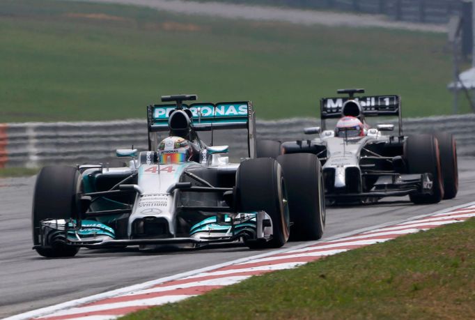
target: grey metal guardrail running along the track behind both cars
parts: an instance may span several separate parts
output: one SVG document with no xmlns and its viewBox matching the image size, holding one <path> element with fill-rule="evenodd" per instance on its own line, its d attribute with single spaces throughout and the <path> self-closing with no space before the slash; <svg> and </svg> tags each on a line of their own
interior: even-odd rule
<svg viewBox="0 0 475 320">
<path fill-rule="evenodd" d="M 309 118 L 257 121 L 257 136 L 280 141 L 311 139 L 304 135 L 303 128 L 319 123 L 318 119 Z M 475 155 L 475 114 L 405 119 L 403 125 L 405 135 L 451 132 L 459 155 Z M 233 131 L 228 137 L 225 131 L 221 132 L 225 135 L 221 141 L 229 144 L 231 151 L 247 148 L 244 132 Z M 0 124 L 0 167 L 109 162 L 114 159 L 116 148 L 132 145 L 146 149 L 146 121 L 3 123 Z"/>
</svg>

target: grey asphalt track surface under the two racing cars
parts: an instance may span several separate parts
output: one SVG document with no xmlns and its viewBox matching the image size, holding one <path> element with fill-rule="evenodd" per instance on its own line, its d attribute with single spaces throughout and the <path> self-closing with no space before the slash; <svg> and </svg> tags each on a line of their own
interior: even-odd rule
<svg viewBox="0 0 475 320">
<path fill-rule="evenodd" d="M 328 208 L 322 240 L 474 201 L 474 169 L 475 158 L 459 159 L 458 195 L 440 204 L 414 206 L 403 197 L 373 205 Z M 31 250 L 34 182 L 35 177 L 0 179 L 0 318 L 263 253 L 242 245 L 215 245 L 148 253 L 135 248 L 115 252 L 81 249 L 75 258 L 45 259 Z"/>
</svg>

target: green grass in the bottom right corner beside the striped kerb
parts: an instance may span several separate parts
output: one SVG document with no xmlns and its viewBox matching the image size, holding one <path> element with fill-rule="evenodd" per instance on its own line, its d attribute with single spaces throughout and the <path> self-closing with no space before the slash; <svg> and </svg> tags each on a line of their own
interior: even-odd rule
<svg viewBox="0 0 475 320">
<path fill-rule="evenodd" d="M 120 319 L 475 319 L 474 279 L 472 219 Z"/>
</svg>

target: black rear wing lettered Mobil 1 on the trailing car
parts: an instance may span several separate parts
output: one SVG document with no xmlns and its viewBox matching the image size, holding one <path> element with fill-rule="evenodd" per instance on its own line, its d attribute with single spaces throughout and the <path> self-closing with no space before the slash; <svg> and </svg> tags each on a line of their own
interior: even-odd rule
<svg viewBox="0 0 475 320">
<path fill-rule="evenodd" d="M 323 128 L 325 128 L 325 119 L 338 119 L 344 115 L 343 107 L 347 105 L 348 101 L 356 102 L 363 116 L 398 116 L 399 135 L 402 135 L 401 102 L 400 96 L 396 95 L 322 98 L 320 100 L 320 119 Z"/>
</svg>

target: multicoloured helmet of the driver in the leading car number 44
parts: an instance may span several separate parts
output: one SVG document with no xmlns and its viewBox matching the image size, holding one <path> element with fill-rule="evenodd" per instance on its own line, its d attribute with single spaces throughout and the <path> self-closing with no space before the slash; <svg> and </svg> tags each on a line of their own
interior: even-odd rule
<svg viewBox="0 0 475 320">
<path fill-rule="evenodd" d="M 160 164 L 178 164 L 192 159 L 193 148 L 191 143 L 182 137 L 166 137 L 158 145 L 158 154 Z"/>
</svg>

